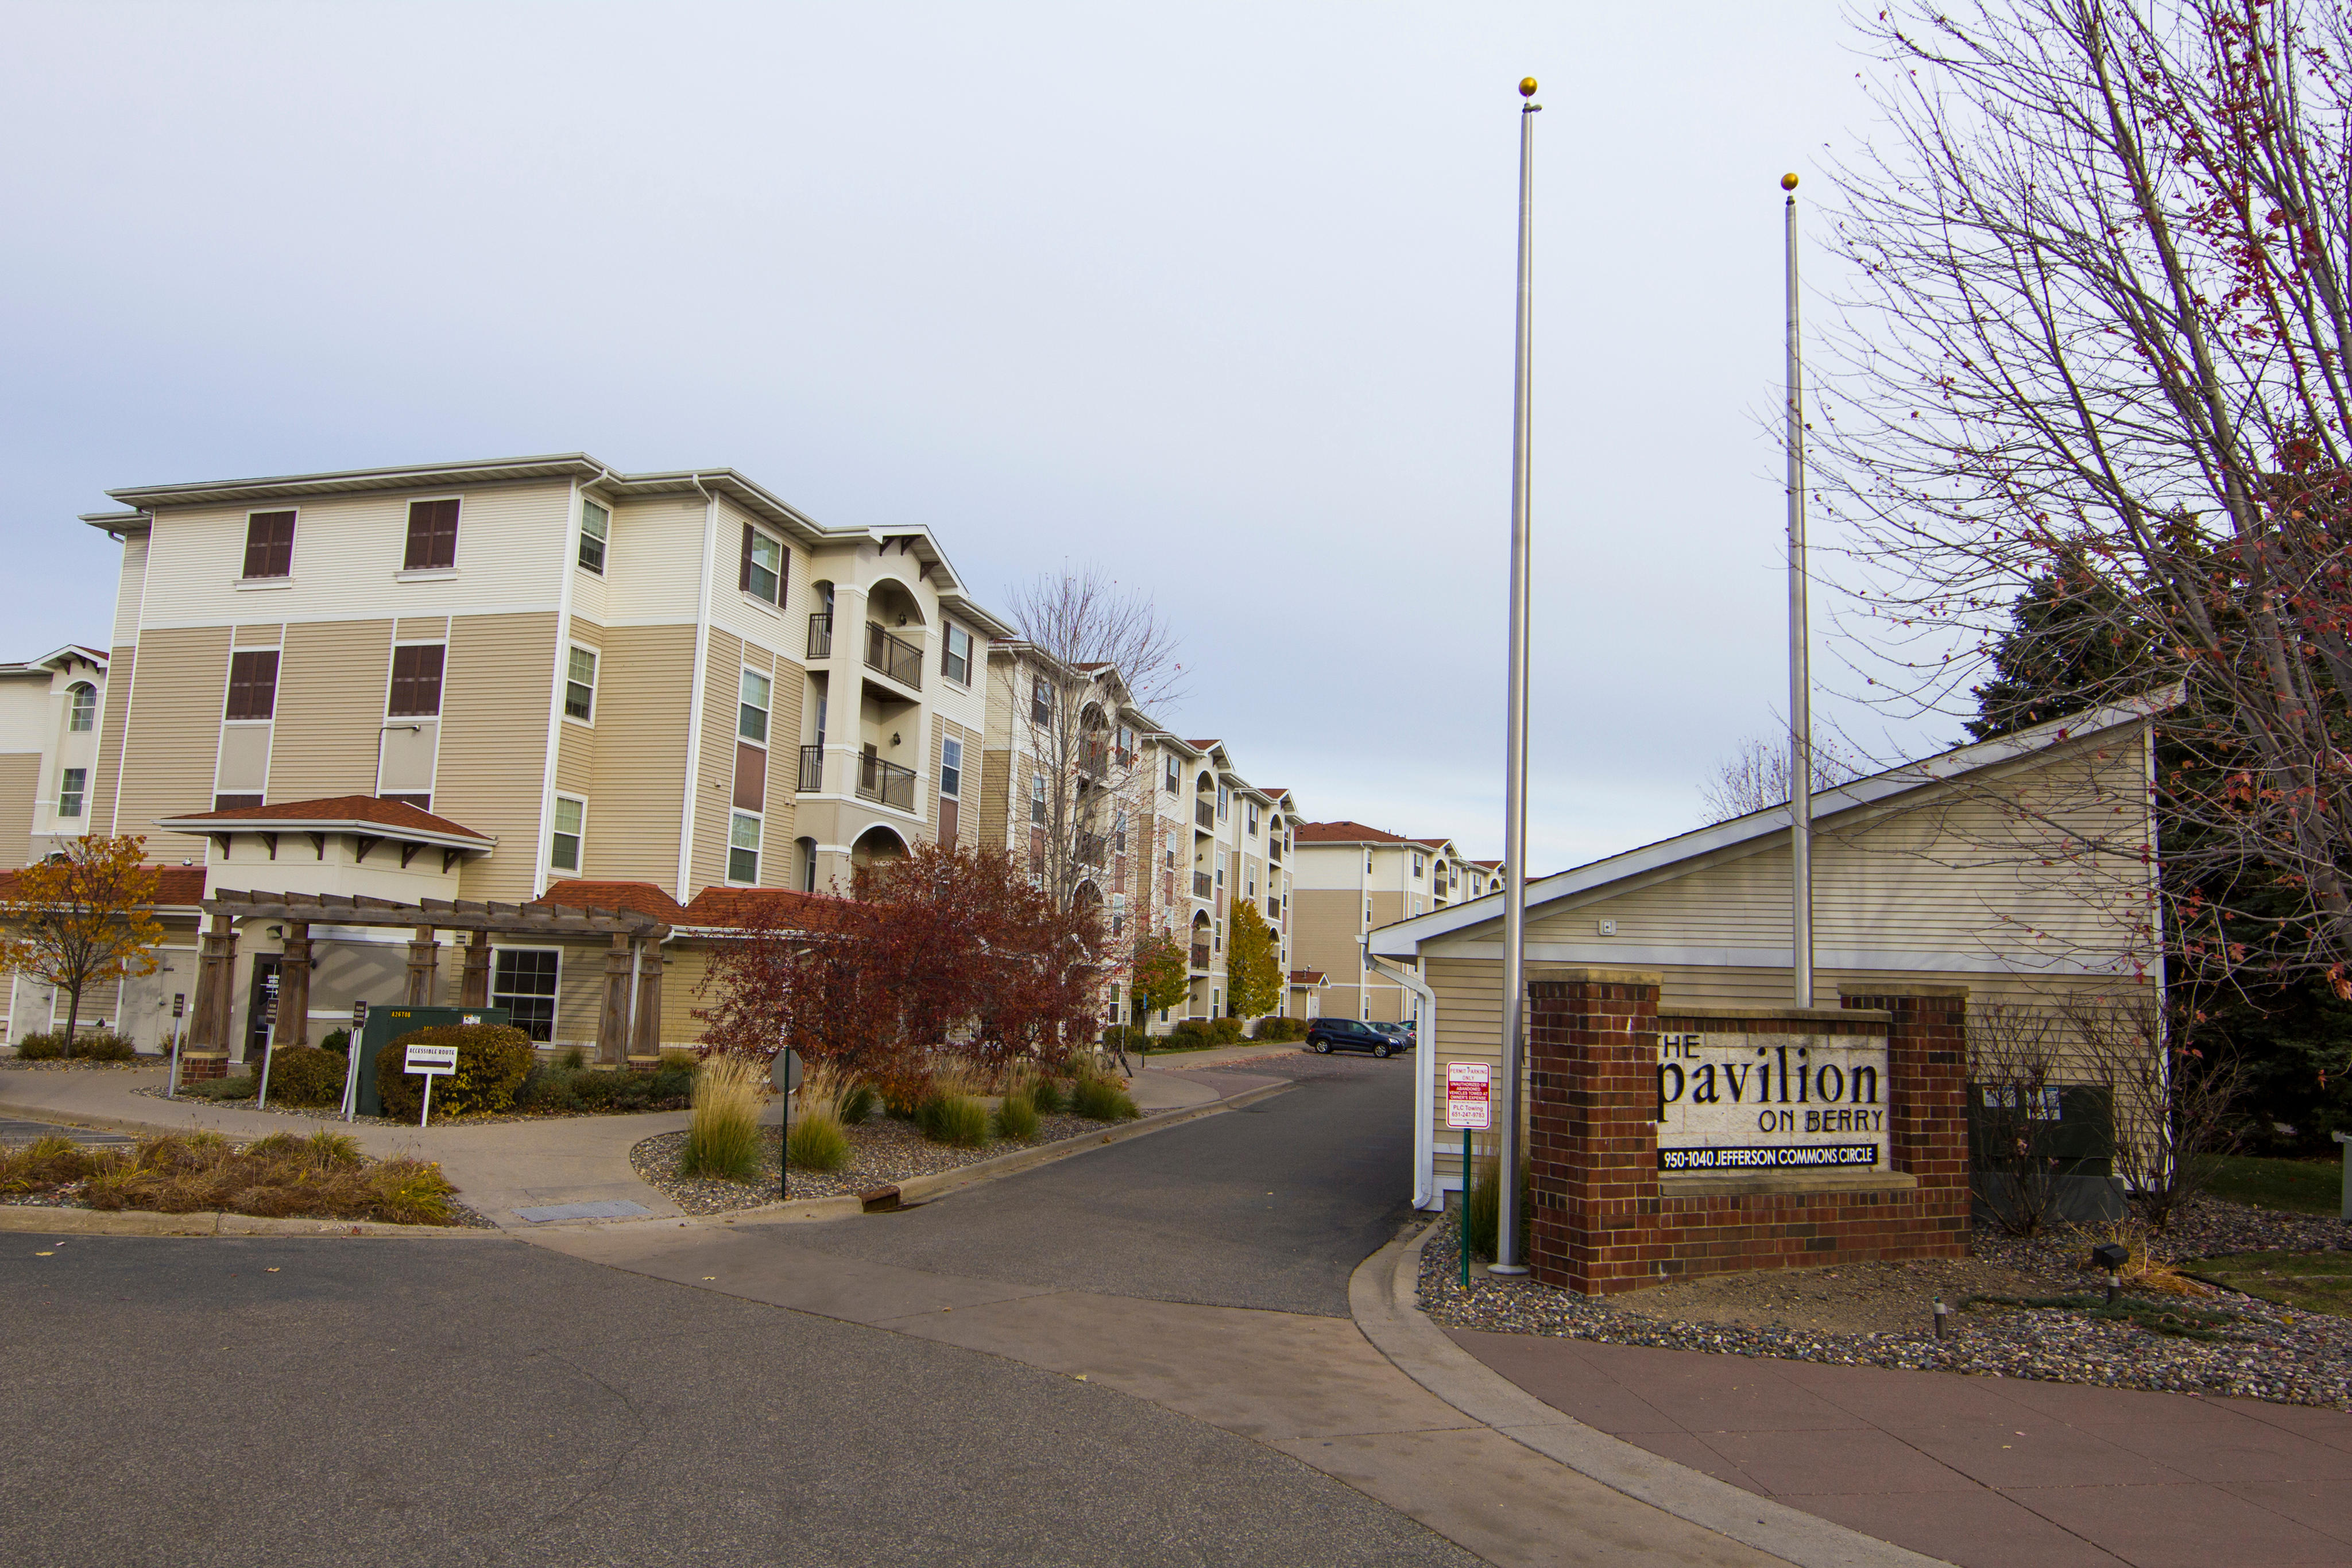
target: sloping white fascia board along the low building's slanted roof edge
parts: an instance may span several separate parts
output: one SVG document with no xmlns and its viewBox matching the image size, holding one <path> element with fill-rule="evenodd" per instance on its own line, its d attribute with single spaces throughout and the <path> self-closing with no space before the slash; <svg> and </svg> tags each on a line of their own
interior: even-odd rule
<svg viewBox="0 0 2352 1568">
<path fill-rule="evenodd" d="M 1896 795 L 1924 790 L 1926 785 L 1950 783 L 1964 773 L 1978 773 L 2004 762 L 2016 762 L 2018 757 L 2046 752 L 2112 729 L 2126 729 L 2178 705 L 2180 686 L 2164 686 L 2161 691 L 2152 691 L 2126 703 L 2110 703 L 2065 719 L 2020 729 L 2013 736 L 1994 736 L 1992 741 L 1959 745 L 1950 752 L 1922 757 L 1919 762 L 1905 762 L 1886 769 L 1884 773 L 1856 778 L 1832 790 L 1813 790 L 1813 820 L 1820 823 L 1823 818 L 1842 811 L 1872 806 L 1877 802 L 1893 799 Z M 1700 856 L 1724 849 L 1748 846 L 1748 851 L 1755 853 L 1790 830 L 1790 816 L 1792 813 L 1785 804 L 1769 806 L 1764 811 L 1736 816 L 1729 823 L 1712 823 L 1672 839 L 1644 844 L 1642 849 L 1628 849 L 1625 853 L 1609 856 L 1606 860 L 1592 860 L 1590 865 L 1552 872 L 1550 877 L 1536 877 L 1526 884 L 1526 910 L 1534 914 L 1538 907 L 1562 903 L 1576 893 L 1590 893 L 1595 889 L 1639 877 L 1642 872 L 1684 867 L 1689 860 L 1698 860 Z M 1484 907 L 1489 903 L 1494 905 L 1491 910 Z M 1395 926 L 1381 926 L 1371 933 L 1369 950 L 1390 959 L 1409 959 L 1418 954 L 1423 945 L 1442 936 L 1482 926 L 1491 919 L 1503 919 L 1503 893 L 1486 893 L 1484 898 L 1418 914 L 1414 919 L 1397 922 Z M 1788 966 L 1785 952 L 1780 954 L 1780 964 Z"/>
</svg>

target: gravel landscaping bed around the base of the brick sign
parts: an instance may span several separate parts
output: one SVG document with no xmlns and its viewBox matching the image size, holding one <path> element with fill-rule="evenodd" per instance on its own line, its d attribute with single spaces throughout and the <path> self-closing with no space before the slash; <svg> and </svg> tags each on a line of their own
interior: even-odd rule
<svg viewBox="0 0 2352 1568">
<path fill-rule="evenodd" d="M 2227 1208 L 2237 1206 L 2201 1204 L 2197 1222 L 2183 1218 L 2183 1234 L 2171 1244 L 2159 1239 L 2157 1253 L 2187 1258 L 2288 1246 L 2277 1237 L 2298 1237 L 2291 1244 L 2296 1251 L 2347 1244 L 2340 1220 L 2324 1222 L 2333 1232 L 2305 1232 L 2312 1215 L 2213 1213 Z M 2328 1241 L 2305 1239 L 2310 1234 L 2326 1234 Z M 2082 1269 L 2084 1251 L 2079 1241 L 1978 1232 L 1976 1255 L 1966 1260 L 1759 1269 L 1618 1298 L 1578 1295 L 1531 1279 L 1505 1284 L 1472 1265 L 1470 1291 L 1463 1293 L 1456 1229 L 1446 1218 L 1421 1253 L 1421 1309 L 1444 1328 L 1486 1333 L 2352 1408 L 2352 1319 L 2293 1312 L 2251 1295 L 2213 1291 L 2187 1302 L 2197 1314 L 2225 1314 L 2206 1328 L 2211 1338 L 2154 1333 L 2072 1307 L 1980 1302 L 1955 1309 L 1950 1338 L 1938 1340 L 1933 1319 L 1922 1309 L 1922 1295 L 1943 1295 L 1959 1307 L 1969 1295 L 2096 1293 L 2098 1276 Z M 2006 1288 L 1987 1291 L 2004 1279 Z M 1842 1312 L 1830 1309 L 1839 1298 L 1851 1300 Z M 1875 1321 L 1907 1316 L 1915 1326 L 1846 1328 L 1872 1321 L 1863 1298 L 1877 1300 Z M 1677 1305 L 1698 1309 L 1675 1312 Z M 2147 1298 L 2147 1305 L 2178 1309 L 2183 1302 Z"/>
</svg>

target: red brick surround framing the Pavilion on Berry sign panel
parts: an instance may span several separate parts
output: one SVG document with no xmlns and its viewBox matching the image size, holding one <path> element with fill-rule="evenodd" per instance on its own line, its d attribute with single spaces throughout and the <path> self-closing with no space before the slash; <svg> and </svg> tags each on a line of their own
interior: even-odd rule
<svg viewBox="0 0 2352 1568">
<path fill-rule="evenodd" d="M 1529 987 L 1529 1265 L 1571 1291 L 1764 1267 L 1959 1258 L 1969 1244 L 1962 992 L 1846 997 L 1891 1023 L 1661 1016 L 1658 985 L 1613 976 Z M 1658 1032 L 1889 1034 L 1889 1161 L 1912 1185 L 1766 1190 L 1658 1180 Z M 1682 1187 L 1682 1194 L 1672 1194 Z"/>
</svg>

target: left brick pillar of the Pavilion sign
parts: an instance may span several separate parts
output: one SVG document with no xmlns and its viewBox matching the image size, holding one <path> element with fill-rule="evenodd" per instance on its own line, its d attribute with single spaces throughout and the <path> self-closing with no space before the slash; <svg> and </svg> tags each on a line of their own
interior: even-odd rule
<svg viewBox="0 0 2352 1568">
<path fill-rule="evenodd" d="M 1529 1267 L 1595 1293 L 1649 1272 L 1658 1211 L 1658 985 L 1583 969 L 1529 992 Z M 1618 1284 L 1616 1288 L 1623 1288 Z"/>
</svg>

